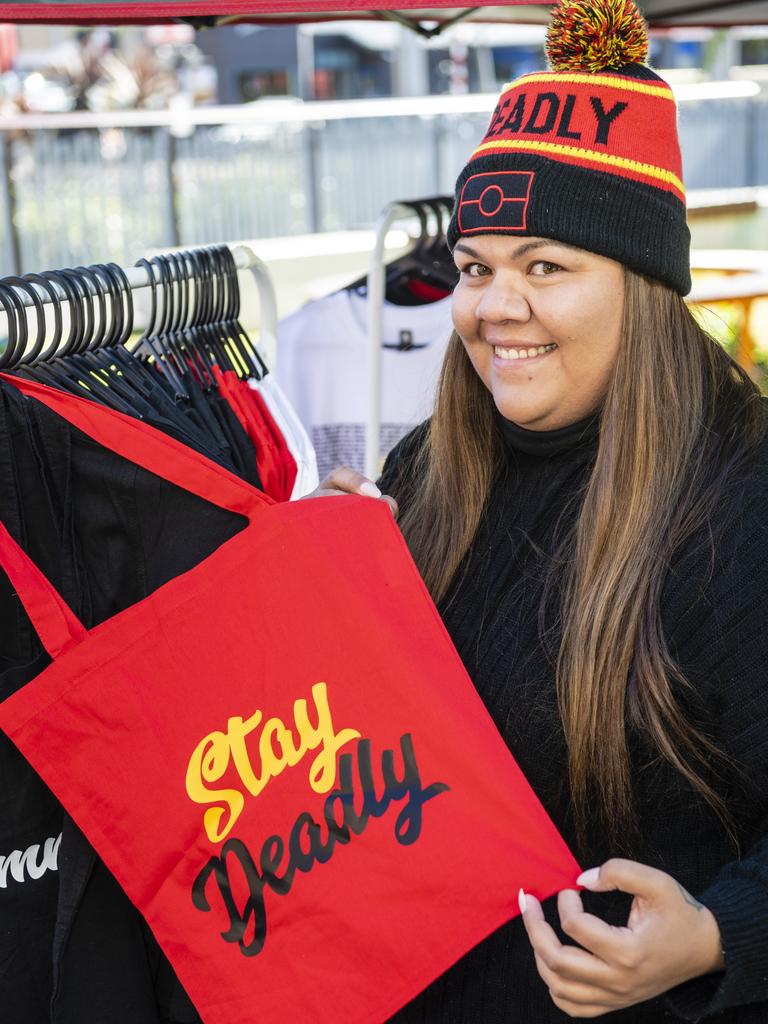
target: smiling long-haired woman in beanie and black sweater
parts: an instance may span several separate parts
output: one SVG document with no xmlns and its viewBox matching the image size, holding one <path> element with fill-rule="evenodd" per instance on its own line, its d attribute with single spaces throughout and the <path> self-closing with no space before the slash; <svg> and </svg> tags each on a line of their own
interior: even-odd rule
<svg viewBox="0 0 768 1024">
<path fill-rule="evenodd" d="M 552 71 L 505 87 L 457 182 L 434 413 L 379 480 L 593 865 L 544 906 L 520 893 L 397 1024 L 768 1020 L 768 416 L 683 299 L 646 50 L 632 0 L 562 0 Z M 321 493 L 373 486 L 342 469 Z"/>
</svg>

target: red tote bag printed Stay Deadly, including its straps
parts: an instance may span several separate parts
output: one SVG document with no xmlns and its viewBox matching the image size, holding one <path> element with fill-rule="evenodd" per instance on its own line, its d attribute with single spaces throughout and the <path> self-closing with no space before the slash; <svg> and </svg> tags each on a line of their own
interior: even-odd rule
<svg viewBox="0 0 768 1024">
<path fill-rule="evenodd" d="M 0 529 L 52 657 L 0 727 L 207 1024 L 386 1020 L 512 918 L 520 886 L 573 886 L 383 503 L 274 504 L 137 421 L 10 380 L 248 520 L 92 630 Z"/>
</svg>

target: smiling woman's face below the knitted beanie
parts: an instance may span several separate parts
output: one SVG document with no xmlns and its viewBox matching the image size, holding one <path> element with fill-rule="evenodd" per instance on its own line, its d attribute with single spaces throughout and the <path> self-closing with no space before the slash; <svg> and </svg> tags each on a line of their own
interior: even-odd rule
<svg viewBox="0 0 768 1024">
<path fill-rule="evenodd" d="M 621 342 L 624 268 L 547 239 L 459 240 L 454 326 L 499 412 L 553 430 L 594 412 Z"/>
</svg>

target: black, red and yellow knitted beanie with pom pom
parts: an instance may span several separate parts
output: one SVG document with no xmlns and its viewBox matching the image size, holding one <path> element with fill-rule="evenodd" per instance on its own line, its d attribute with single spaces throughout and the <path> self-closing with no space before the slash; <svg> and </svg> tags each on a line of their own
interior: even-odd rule
<svg viewBox="0 0 768 1024">
<path fill-rule="evenodd" d="M 459 175 L 447 229 L 536 236 L 690 290 L 690 232 L 672 89 L 644 63 L 633 0 L 561 0 L 551 71 L 505 85 Z"/>
</svg>

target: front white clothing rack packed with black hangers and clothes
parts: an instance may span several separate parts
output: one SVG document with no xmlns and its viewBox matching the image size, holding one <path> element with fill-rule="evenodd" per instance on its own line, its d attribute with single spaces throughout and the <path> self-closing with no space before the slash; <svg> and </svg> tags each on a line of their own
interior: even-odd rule
<svg viewBox="0 0 768 1024">
<path fill-rule="evenodd" d="M 273 348 L 278 310 L 264 263 L 247 246 L 211 245 L 126 268 L 0 279 L 8 328 L 0 369 L 142 420 L 274 501 L 303 497 L 317 485 L 314 452 L 240 322 L 239 269 L 254 276 L 260 341 Z M 151 295 L 139 337 L 142 288 Z"/>
</svg>

